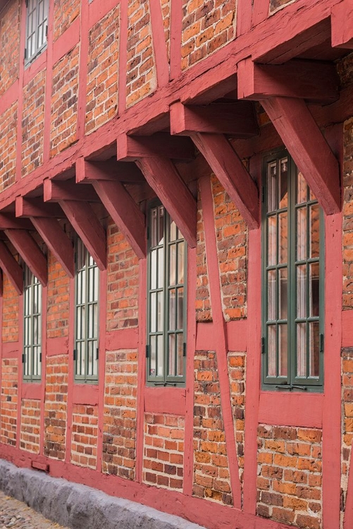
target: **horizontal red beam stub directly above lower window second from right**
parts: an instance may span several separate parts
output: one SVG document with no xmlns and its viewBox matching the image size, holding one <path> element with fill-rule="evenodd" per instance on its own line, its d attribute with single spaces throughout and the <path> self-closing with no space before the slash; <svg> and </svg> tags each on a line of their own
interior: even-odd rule
<svg viewBox="0 0 353 529">
<path fill-rule="evenodd" d="M 178 160 L 194 159 L 194 146 L 189 138 L 173 138 L 168 133 L 152 136 L 120 134 L 117 140 L 118 160 L 133 162 L 138 158 L 166 157 Z"/>
</svg>

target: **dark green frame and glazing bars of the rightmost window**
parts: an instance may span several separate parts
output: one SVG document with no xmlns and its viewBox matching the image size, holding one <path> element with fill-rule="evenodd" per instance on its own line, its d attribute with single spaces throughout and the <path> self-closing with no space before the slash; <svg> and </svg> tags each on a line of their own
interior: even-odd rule
<svg viewBox="0 0 353 529">
<path fill-rule="evenodd" d="M 280 215 L 285 209 L 280 207 L 275 207 L 271 212 L 268 212 L 268 186 L 267 186 L 267 174 L 268 166 L 271 162 L 277 162 L 278 166 L 281 159 L 287 158 L 287 183 L 288 183 L 288 205 L 287 205 L 287 320 L 280 320 L 278 317 L 280 312 L 279 308 L 279 297 L 280 294 L 280 272 L 279 269 L 283 265 L 278 264 L 278 255 L 279 255 L 279 239 L 276 235 L 276 255 L 277 260 L 275 265 L 268 264 L 268 217 L 273 216 L 274 214 Z M 299 209 L 305 209 L 306 212 L 309 212 L 311 207 L 315 207 L 318 204 L 316 198 L 311 196 L 309 186 L 307 186 L 307 195 L 306 202 L 301 202 L 299 205 L 296 204 L 296 193 L 297 193 L 297 181 L 298 181 L 299 170 L 295 163 L 293 162 L 290 154 L 285 150 L 275 150 L 271 152 L 268 156 L 264 158 L 263 166 L 263 193 L 262 193 L 262 213 L 261 213 L 261 261 L 262 261 L 262 271 L 261 271 L 261 291 L 262 291 L 262 301 L 261 301 L 261 311 L 262 311 L 262 338 L 261 338 L 261 353 L 262 353 L 262 389 L 275 390 L 275 391 L 313 391 L 313 392 L 322 392 L 323 391 L 323 333 L 324 333 L 324 274 L 325 274 L 325 233 L 324 233 L 324 217 L 321 207 L 319 209 L 319 253 L 317 258 L 309 258 L 309 229 L 308 222 L 306 222 L 306 258 L 299 259 L 297 256 L 297 237 L 299 230 L 297 228 L 297 215 Z M 278 186 L 280 184 L 278 183 Z M 279 197 L 278 197 L 278 200 Z M 278 224 L 277 224 L 278 226 Z M 277 233 L 279 228 L 277 229 Z M 306 312 L 305 317 L 298 317 L 298 279 L 297 279 L 297 269 L 299 267 L 305 267 L 306 269 L 306 278 L 309 277 L 307 272 L 309 272 L 309 267 L 314 266 L 316 263 L 319 263 L 319 274 L 318 274 L 318 316 L 309 315 L 309 312 Z M 284 266 L 285 267 L 285 266 Z M 271 270 L 275 270 L 275 318 L 268 317 L 268 274 Z M 313 287 L 314 281 L 306 279 L 305 287 L 305 307 L 306 311 L 309 311 L 309 288 Z M 309 287 L 308 287 L 309 285 Z M 312 297 L 311 297 L 312 299 Z M 299 308 L 300 310 L 300 308 Z M 269 369 L 269 343 L 268 343 L 268 329 L 275 322 L 277 329 L 281 324 L 287 322 L 287 355 L 284 355 L 287 358 L 287 376 L 283 373 L 279 373 L 279 355 L 280 355 L 280 346 L 279 346 L 279 330 L 276 331 L 275 341 L 277 344 L 277 364 L 276 364 L 276 375 L 270 376 L 268 374 Z M 311 324 L 311 329 L 314 329 L 314 325 L 318 322 L 318 377 L 308 376 L 309 375 L 309 325 Z M 299 376 L 297 372 L 297 326 L 299 324 L 304 324 L 306 326 L 306 376 Z M 300 334 L 300 332 L 299 332 Z M 298 368 L 299 369 L 299 368 Z M 272 374 L 271 374 L 272 375 Z"/>
</svg>

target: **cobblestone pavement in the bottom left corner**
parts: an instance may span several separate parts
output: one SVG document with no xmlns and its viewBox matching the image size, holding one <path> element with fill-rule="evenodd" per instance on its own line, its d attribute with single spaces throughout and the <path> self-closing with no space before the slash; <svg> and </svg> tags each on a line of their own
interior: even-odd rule
<svg viewBox="0 0 353 529">
<path fill-rule="evenodd" d="M 68 529 L 51 522 L 0 490 L 0 529 Z"/>
</svg>

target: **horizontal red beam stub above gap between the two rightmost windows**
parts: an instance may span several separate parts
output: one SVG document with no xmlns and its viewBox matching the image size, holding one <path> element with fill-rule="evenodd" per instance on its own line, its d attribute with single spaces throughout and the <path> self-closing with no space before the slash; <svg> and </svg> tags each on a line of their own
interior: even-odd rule
<svg viewBox="0 0 353 529">
<path fill-rule="evenodd" d="M 252 138 L 259 133 L 254 104 L 249 101 L 209 105 L 171 105 L 171 134 L 227 134 L 233 138 Z"/>
</svg>

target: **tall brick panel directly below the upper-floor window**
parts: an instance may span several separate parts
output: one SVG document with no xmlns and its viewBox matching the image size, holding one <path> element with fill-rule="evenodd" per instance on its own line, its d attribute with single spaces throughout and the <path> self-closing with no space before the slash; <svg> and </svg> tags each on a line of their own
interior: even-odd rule
<svg viewBox="0 0 353 529">
<path fill-rule="evenodd" d="M 23 89 L 22 175 L 43 162 L 45 70 L 37 73 Z"/>
</svg>

